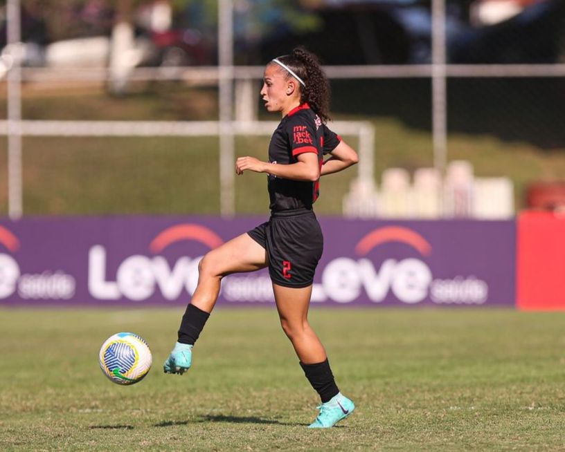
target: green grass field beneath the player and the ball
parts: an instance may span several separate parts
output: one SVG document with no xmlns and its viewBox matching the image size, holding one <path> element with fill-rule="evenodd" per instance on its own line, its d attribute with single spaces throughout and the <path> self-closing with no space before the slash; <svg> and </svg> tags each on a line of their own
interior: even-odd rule
<svg viewBox="0 0 565 452">
<path fill-rule="evenodd" d="M 193 368 L 162 362 L 182 310 L 0 310 L 0 450 L 557 451 L 565 314 L 312 310 L 357 411 L 306 429 L 318 402 L 274 309 L 216 310 Z M 114 332 L 150 343 L 134 386 L 98 368 Z"/>
</svg>

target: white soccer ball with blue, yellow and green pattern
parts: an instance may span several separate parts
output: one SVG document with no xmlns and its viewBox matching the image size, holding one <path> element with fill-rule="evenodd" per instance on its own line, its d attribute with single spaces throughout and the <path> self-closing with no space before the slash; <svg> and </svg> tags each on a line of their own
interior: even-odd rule
<svg viewBox="0 0 565 452">
<path fill-rule="evenodd" d="M 132 332 L 118 332 L 100 348 L 98 363 L 104 375 L 116 384 L 141 382 L 153 361 L 147 342 Z"/>
</svg>

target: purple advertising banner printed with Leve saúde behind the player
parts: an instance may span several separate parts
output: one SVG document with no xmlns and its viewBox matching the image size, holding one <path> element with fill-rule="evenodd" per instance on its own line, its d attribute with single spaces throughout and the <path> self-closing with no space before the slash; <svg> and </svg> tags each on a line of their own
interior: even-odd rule
<svg viewBox="0 0 565 452">
<path fill-rule="evenodd" d="M 206 252 L 267 218 L 0 220 L 0 305 L 186 305 Z M 516 222 L 320 218 L 312 305 L 514 305 Z M 220 305 L 273 303 L 266 270 L 222 281 Z"/>
</svg>

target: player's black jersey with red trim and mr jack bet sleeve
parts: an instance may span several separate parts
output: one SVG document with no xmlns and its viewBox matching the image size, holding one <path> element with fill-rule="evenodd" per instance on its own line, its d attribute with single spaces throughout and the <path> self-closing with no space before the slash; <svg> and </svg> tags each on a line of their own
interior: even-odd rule
<svg viewBox="0 0 565 452">
<path fill-rule="evenodd" d="M 325 124 L 308 104 L 297 106 L 280 121 L 269 143 L 269 162 L 292 164 L 301 153 L 318 156 L 320 167 L 324 154 L 333 151 L 341 138 Z M 319 196 L 319 181 L 289 180 L 267 176 L 272 211 L 312 209 Z"/>
</svg>

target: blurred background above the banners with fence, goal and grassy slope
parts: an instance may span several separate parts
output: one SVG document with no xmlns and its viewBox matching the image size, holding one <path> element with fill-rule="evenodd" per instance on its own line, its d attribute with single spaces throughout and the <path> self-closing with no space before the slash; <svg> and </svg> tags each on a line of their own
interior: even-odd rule
<svg viewBox="0 0 565 452">
<path fill-rule="evenodd" d="M 298 44 L 361 153 L 319 214 L 512 218 L 565 205 L 563 0 L 0 2 L 0 214 L 259 214 Z"/>
</svg>

